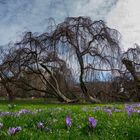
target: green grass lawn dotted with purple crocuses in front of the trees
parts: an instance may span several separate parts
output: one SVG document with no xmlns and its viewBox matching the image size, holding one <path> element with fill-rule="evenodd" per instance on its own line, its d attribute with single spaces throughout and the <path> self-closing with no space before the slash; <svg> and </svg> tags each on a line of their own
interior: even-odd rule
<svg viewBox="0 0 140 140">
<path fill-rule="evenodd" d="M 0 140 L 139 140 L 140 114 L 128 116 L 124 104 L 66 105 L 44 104 L 35 101 L 16 101 L 16 106 L 0 103 Z M 95 111 L 95 107 L 100 110 Z M 110 109 L 109 115 L 104 109 Z M 22 109 L 31 112 L 21 113 Z M 116 110 L 119 109 L 119 110 Z M 136 107 L 135 109 L 140 109 Z M 2 115 L 3 112 L 12 115 Z M 66 116 L 71 116 L 72 126 L 66 126 Z M 88 118 L 94 117 L 97 126 L 92 128 Z M 42 122 L 44 127 L 38 128 Z M 21 126 L 22 130 L 10 135 L 10 127 Z"/>
</svg>

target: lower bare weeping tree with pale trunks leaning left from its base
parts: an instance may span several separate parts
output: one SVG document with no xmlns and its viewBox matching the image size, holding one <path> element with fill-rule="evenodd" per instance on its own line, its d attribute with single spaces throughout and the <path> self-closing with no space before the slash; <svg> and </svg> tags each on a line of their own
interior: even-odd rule
<svg viewBox="0 0 140 140">
<path fill-rule="evenodd" d="M 52 51 L 50 43 L 50 36 L 47 33 L 36 36 L 31 32 L 25 34 L 23 39 L 16 43 L 16 57 L 11 61 L 11 65 L 19 64 L 15 73 L 20 73 L 18 79 L 13 81 L 15 85 L 24 90 L 35 90 L 48 94 L 48 88 L 52 90 L 55 97 L 65 102 L 75 102 L 77 100 L 71 100 L 67 98 L 60 90 L 59 81 L 56 79 L 55 72 L 67 72 L 65 61 L 60 59 L 59 56 Z M 15 59 L 16 58 L 16 59 Z M 15 67 L 14 67 L 15 68 Z M 44 89 L 40 89 L 31 82 L 26 81 L 22 77 L 24 73 L 30 73 L 38 75 L 38 78 L 44 85 Z M 51 80 L 50 80 L 51 79 Z M 52 82 L 50 82 L 52 81 Z M 24 85 L 24 86 L 23 86 Z"/>
</svg>

